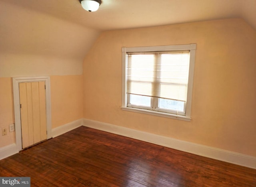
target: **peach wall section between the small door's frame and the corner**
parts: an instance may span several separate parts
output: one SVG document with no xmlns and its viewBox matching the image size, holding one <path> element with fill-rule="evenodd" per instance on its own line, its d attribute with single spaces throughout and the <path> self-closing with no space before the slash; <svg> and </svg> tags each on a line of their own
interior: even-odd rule
<svg viewBox="0 0 256 187">
<path fill-rule="evenodd" d="M 82 118 L 82 75 L 51 76 L 52 128 Z"/>
</svg>

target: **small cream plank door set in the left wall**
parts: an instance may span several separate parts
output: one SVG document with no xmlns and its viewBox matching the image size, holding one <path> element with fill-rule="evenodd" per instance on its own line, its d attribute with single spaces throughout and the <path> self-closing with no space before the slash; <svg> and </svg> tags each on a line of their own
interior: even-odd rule
<svg viewBox="0 0 256 187">
<path fill-rule="evenodd" d="M 22 149 L 47 139 L 45 81 L 19 83 Z"/>
</svg>

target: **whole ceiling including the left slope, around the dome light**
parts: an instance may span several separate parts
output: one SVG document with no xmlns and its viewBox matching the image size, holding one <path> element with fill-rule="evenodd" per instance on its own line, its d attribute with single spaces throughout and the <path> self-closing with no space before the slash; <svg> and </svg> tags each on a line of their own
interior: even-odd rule
<svg viewBox="0 0 256 187">
<path fill-rule="evenodd" d="M 243 18 L 256 29 L 256 0 L 0 0 L 0 52 L 82 60 L 100 31 Z"/>
</svg>

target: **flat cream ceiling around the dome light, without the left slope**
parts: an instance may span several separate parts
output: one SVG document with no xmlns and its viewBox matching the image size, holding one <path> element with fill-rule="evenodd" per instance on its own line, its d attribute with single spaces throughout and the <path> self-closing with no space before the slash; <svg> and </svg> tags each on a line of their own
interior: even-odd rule
<svg viewBox="0 0 256 187">
<path fill-rule="evenodd" d="M 102 0 L 97 12 L 79 0 L 0 0 L 97 30 L 243 18 L 256 29 L 256 0 Z"/>
</svg>

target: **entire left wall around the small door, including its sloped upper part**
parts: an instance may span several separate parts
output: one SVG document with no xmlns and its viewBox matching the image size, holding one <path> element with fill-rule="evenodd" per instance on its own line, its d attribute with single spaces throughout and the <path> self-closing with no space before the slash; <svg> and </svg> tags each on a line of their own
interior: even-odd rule
<svg viewBox="0 0 256 187">
<path fill-rule="evenodd" d="M 14 123 L 11 77 L 50 76 L 52 128 L 82 118 L 82 61 L 99 31 L 14 1 L 0 12 L 0 128 Z M 1 132 L 0 148 L 15 143 Z"/>
</svg>

